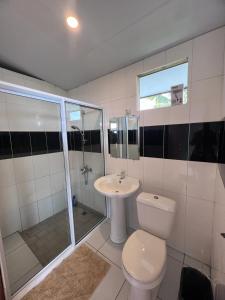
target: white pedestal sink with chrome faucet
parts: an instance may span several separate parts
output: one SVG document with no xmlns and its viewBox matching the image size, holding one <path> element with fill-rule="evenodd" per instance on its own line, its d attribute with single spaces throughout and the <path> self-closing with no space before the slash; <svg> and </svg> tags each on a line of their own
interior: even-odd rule
<svg viewBox="0 0 225 300">
<path fill-rule="evenodd" d="M 124 199 L 134 194 L 140 186 L 139 180 L 120 175 L 107 175 L 98 178 L 95 189 L 102 195 L 111 198 L 111 234 L 114 243 L 123 243 L 127 238 L 126 214 Z"/>
</svg>

